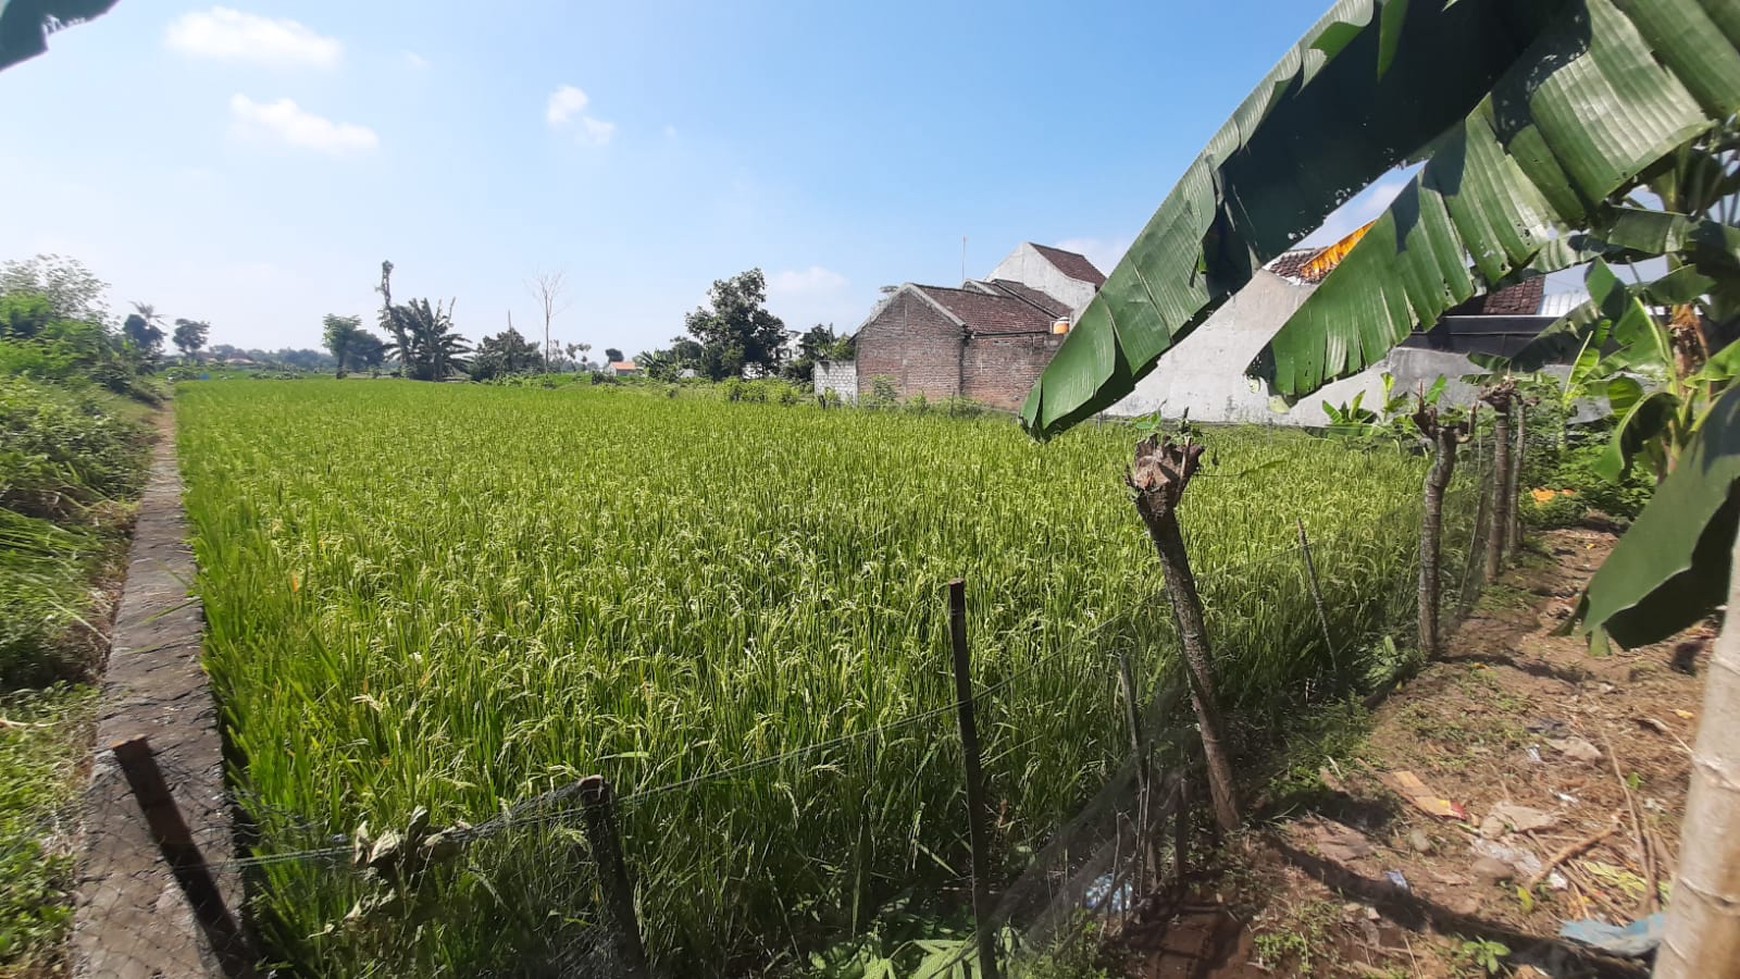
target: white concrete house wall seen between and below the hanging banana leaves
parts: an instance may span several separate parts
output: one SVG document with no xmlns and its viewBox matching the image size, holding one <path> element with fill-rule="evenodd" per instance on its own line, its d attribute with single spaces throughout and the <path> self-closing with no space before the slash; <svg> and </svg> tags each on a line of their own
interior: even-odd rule
<svg viewBox="0 0 1740 979">
<path fill-rule="evenodd" d="M 1422 381 L 1430 388 L 1439 376 L 1446 376 L 1451 379 L 1444 391 L 1446 403 L 1474 400 L 1474 388 L 1456 381 L 1479 370 L 1469 358 L 1401 348 L 1376 367 L 1336 381 L 1293 407 L 1270 398 L 1262 383 L 1244 376 L 1244 369 L 1310 292 L 1308 285 L 1258 271 L 1249 285 L 1168 351 L 1159 367 L 1105 414 L 1134 417 L 1162 410 L 1166 417 L 1178 417 L 1188 407 L 1192 421 L 1322 426 L 1329 423 L 1324 402 L 1342 405 L 1361 391 L 1368 391 L 1364 407 L 1382 410 L 1385 372 L 1395 376 L 1401 391 L 1413 391 Z"/>
</svg>

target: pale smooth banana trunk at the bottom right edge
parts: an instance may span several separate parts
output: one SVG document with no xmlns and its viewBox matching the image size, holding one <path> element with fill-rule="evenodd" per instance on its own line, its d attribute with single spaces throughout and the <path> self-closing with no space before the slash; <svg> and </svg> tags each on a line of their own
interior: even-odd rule
<svg viewBox="0 0 1740 979">
<path fill-rule="evenodd" d="M 1679 873 L 1667 906 L 1656 979 L 1740 976 L 1740 537 L 1728 621 L 1703 682 L 1691 791 L 1679 828 Z"/>
</svg>

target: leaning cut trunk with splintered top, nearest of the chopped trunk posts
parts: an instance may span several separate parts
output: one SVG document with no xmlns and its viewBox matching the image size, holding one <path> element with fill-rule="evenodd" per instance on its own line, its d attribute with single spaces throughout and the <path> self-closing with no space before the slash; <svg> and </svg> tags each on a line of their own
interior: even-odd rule
<svg viewBox="0 0 1740 979">
<path fill-rule="evenodd" d="M 1208 786 L 1215 798 L 1215 819 L 1232 833 L 1239 828 L 1239 800 L 1232 783 L 1232 762 L 1221 741 L 1220 709 L 1215 704 L 1215 678 L 1209 671 L 1208 626 L 1202 616 L 1202 596 L 1190 572 L 1190 555 L 1185 549 L 1183 530 L 1178 527 L 1178 503 L 1190 476 L 1195 475 L 1202 445 L 1145 438 L 1136 445 L 1136 466 L 1126 476 L 1134 490 L 1136 511 L 1148 527 L 1154 549 L 1161 556 L 1166 577 L 1166 596 L 1178 624 L 1178 642 L 1185 652 L 1185 673 L 1190 683 L 1190 706 L 1195 708 L 1197 727 L 1202 730 L 1202 755 L 1208 758 Z"/>
</svg>

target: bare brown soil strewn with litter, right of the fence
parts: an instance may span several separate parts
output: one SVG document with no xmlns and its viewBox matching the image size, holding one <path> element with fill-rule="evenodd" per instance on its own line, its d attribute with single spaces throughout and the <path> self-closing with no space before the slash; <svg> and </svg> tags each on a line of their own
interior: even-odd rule
<svg viewBox="0 0 1740 979">
<path fill-rule="evenodd" d="M 1716 631 L 1606 657 L 1554 636 L 1611 546 L 1531 539 L 1317 784 L 1272 800 L 1168 922 L 1129 932 L 1133 974 L 1644 976 L 1557 934 L 1660 909 Z"/>
</svg>

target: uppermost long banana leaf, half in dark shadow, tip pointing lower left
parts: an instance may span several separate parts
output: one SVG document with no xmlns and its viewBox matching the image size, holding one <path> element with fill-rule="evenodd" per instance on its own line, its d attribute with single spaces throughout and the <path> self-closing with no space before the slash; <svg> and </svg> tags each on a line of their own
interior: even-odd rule
<svg viewBox="0 0 1740 979">
<path fill-rule="evenodd" d="M 1462 120 L 1575 0 L 1342 0 L 1161 203 L 1021 409 L 1112 405 L 1253 271 Z M 1382 68 L 1382 70 L 1380 70 Z"/>
</svg>

